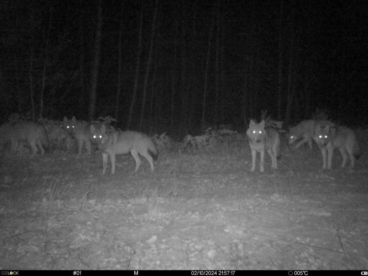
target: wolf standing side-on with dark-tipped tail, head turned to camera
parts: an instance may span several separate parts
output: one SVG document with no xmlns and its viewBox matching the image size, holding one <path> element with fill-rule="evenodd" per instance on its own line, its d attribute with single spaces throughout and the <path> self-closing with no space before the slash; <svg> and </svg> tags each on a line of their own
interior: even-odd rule
<svg viewBox="0 0 368 276">
<path fill-rule="evenodd" d="M 130 154 L 135 160 L 135 170 L 137 172 L 141 166 L 139 155 L 146 158 L 151 166 L 152 172 L 155 170 L 153 160 L 157 160 L 158 151 L 151 138 L 147 135 L 136 131 L 115 131 L 112 133 L 106 132 L 106 125 L 102 124 L 100 128 L 91 125 L 91 134 L 93 143 L 95 143 L 102 153 L 102 174 L 106 174 L 107 159 L 110 156 L 111 173 L 115 173 L 115 157 L 116 155 Z"/>
</svg>

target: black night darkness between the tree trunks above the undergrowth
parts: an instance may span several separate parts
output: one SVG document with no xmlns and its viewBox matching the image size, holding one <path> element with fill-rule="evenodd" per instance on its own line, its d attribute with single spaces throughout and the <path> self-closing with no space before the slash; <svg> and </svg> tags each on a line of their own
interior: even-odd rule
<svg viewBox="0 0 368 276">
<path fill-rule="evenodd" d="M 31 112 L 31 90 L 39 117 L 42 87 L 43 117 L 87 120 L 99 2 L 0 3 L 0 122 L 11 113 Z M 142 13 L 130 127 L 137 129 L 156 3 L 101 3 L 95 119 L 115 116 L 121 31 L 117 125 L 126 127 Z M 366 1 L 159 0 L 139 128 L 199 128 L 206 68 L 206 124 L 244 125 L 262 110 L 292 124 L 319 108 L 341 124 L 366 125 L 367 14 Z"/>
</svg>

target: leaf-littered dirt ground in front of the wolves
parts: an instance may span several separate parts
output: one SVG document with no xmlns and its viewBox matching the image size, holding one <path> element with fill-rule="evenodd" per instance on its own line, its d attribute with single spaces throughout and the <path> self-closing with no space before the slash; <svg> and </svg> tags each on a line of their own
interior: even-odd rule
<svg viewBox="0 0 368 276">
<path fill-rule="evenodd" d="M 98 152 L 6 155 L 0 269 L 367 269 L 367 145 L 332 171 L 315 145 L 283 145 L 265 173 L 247 142 L 161 152 L 154 173 L 119 156 L 106 176 Z"/>
</svg>

